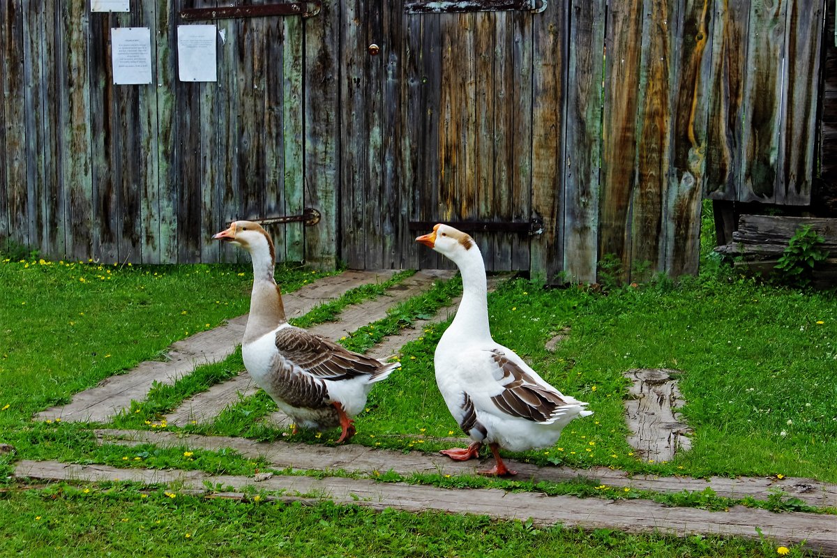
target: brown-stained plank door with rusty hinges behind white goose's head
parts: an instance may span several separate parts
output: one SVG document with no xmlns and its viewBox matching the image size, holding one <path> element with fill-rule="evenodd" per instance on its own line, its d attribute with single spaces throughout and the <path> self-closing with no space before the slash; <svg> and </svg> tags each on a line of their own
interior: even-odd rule
<svg viewBox="0 0 837 558">
<path fill-rule="evenodd" d="M 543 86 L 533 79 L 543 74 L 533 70 L 542 61 L 538 17 L 411 13 L 400 0 L 343 4 L 341 254 L 350 267 L 449 267 L 413 238 L 433 223 L 465 222 L 501 229 L 470 231 L 487 269 L 530 269 L 530 245 L 543 235 L 504 229 L 546 218 L 555 230 L 554 201 L 533 206 L 532 177 L 557 190 L 562 135 L 560 105 L 533 106 Z M 549 95 L 560 90 L 558 74 Z M 537 145 L 552 147 L 537 165 L 535 115 L 549 136 Z"/>
</svg>

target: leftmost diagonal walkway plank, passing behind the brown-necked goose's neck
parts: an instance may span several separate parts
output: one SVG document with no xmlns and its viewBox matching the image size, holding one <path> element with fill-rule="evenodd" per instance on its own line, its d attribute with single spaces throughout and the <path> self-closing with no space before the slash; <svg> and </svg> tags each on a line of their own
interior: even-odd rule
<svg viewBox="0 0 837 558">
<path fill-rule="evenodd" d="M 394 274 L 394 271 L 352 271 L 326 277 L 283 296 L 289 318 L 307 313 L 324 299 L 334 299 L 347 290 L 370 281 Z M 73 397 L 62 407 L 50 407 L 39 412 L 36 420 L 65 422 L 106 422 L 121 409 L 131 406 L 131 400 L 141 400 L 155 381 L 172 384 L 178 377 L 191 373 L 196 366 L 222 361 L 241 342 L 247 315 L 229 320 L 227 325 L 202 331 L 177 341 L 167 351 L 167 361 L 145 361 L 124 375 L 110 376 L 98 386 Z"/>
</svg>

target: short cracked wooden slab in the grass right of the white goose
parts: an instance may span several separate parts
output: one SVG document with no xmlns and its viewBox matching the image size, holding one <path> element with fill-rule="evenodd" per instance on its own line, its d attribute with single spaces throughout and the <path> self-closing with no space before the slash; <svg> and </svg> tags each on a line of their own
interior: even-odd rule
<svg viewBox="0 0 837 558">
<path fill-rule="evenodd" d="M 624 402 L 633 431 L 628 443 L 647 461 L 670 461 L 691 448 L 691 428 L 676 412 L 684 404 L 683 396 L 671 372 L 676 371 L 635 368 L 624 373 L 633 382 L 631 397 Z"/>
</svg>

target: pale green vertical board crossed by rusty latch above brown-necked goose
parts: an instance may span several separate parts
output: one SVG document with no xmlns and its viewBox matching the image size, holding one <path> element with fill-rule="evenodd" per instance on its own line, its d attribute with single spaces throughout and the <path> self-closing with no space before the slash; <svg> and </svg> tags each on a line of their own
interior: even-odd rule
<svg viewBox="0 0 837 558">
<path fill-rule="evenodd" d="M 301 215 L 305 209 L 305 145 L 302 100 L 302 36 L 304 23 L 301 18 L 283 18 L 285 42 L 283 63 L 285 69 L 285 95 L 283 97 L 283 122 L 285 126 L 285 211 L 289 215 Z M 305 231 L 302 223 L 285 225 L 285 259 L 301 262 L 305 259 Z"/>
</svg>

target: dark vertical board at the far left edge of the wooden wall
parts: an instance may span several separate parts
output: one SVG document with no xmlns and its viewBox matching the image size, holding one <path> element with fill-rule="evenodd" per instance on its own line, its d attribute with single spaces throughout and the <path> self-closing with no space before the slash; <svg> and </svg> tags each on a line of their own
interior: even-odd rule
<svg viewBox="0 0 837 558">
<path fill-rule="evenodd" d="M 20 0 L 9 2 L 3 14 L 3 104 L 6 119 L 5 182 L 8 207 L 8 238 L 25 247 L 30 246 L 33 232 L 28 219 L 27 177 L 27 103 L 23 46 L 23 18 Z M 34 248 L 34 247 L 32 247 Z"/>
</svg>

